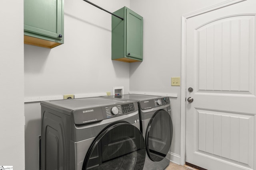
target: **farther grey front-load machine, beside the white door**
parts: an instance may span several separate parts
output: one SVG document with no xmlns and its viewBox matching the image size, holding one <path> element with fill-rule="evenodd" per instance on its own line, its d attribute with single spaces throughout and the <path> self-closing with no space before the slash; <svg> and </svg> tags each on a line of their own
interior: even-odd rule
<svg viewBox="0 0 256 170">
<path fill-rule="evenodd" d="M 163 96 L 126 94 L 104 96 L 119 100 L 136 100 L 139 106 L 140 130 L 146 141 L 144 170 L 163 170 L 170 164 L 166 156 L 172 143 L 170 99 Z"/>
</svg>

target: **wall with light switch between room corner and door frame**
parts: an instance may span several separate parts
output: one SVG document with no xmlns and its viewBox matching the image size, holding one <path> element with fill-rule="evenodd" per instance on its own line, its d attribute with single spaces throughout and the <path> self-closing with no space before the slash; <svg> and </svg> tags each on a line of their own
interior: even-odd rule
<svg viewBox="0 0 256 170">
<path fill-rule="evenodd" d="M 178 98 L 170 98 L 171 158 L 176 163 L 180 163 L 181 88 L 171 86 L 171 77 L 181 76 L 181 16 L 225 1 L 130 0 L 130 8 L 144 18 L 143 62 L 130 64 L 130 91 L 178 94 Z"/>
</svg>

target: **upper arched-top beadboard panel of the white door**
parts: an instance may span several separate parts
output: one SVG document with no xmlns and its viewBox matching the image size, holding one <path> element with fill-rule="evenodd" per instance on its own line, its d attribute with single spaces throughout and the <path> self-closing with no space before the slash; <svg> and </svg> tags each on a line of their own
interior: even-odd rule
<svg viewBox="0 0 256 170">
<path fill-rule="evenodd" d="M 255 15 L 230 16 L 195 30 L 198 90 L 252 93 L 254 21 Z"/>
</svg>

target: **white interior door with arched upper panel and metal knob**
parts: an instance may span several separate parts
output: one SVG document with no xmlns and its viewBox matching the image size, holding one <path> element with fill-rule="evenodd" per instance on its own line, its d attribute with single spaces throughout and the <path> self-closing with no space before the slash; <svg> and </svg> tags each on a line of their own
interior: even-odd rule
<svg viewBox="0 0 256 170">
<path fill-rule="evenodd" d="M 256 0 L 186 20 L 186 162 L 256 170 L 255 39 Z"/>
</svg>

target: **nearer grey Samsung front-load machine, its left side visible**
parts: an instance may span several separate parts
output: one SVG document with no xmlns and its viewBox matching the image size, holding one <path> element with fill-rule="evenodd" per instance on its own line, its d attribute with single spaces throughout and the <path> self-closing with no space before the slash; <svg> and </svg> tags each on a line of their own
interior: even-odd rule
<svg viewBox="0 0 256 170">
<path fill-rule="evenodd" d="M 136 101 L 41 102 L 42 170 L 141 170 L 146 146 Z"/>
</svg>

